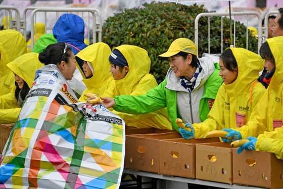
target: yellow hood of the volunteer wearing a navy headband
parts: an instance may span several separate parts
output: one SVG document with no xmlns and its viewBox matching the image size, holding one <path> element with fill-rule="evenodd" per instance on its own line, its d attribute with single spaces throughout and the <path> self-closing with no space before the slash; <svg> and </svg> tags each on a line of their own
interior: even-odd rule
<svg viewBox="0 0 283 189">
<path fill-rule="evenodd" d="M 127 75 L 123 79 L 115 81 L 116 84 L 123 83 L 125 87 L 123 95 L 126 95 L 131 93 L 133 86 L 150 72 L 151 60 L 148 56 L 148 52 L 138 46 L 123 44 L 113 50 L 115 49 L 123 54 L 129 65 Z"/>
</svg>

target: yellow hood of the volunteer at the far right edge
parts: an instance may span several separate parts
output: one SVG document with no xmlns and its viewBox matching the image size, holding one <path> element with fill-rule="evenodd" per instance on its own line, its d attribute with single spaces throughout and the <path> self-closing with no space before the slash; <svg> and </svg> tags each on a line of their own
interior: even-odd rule
<svg viewBox="0 0 283 189">
<path fill-rule="evenodd" d="M 267 89 L 276 88 L 283 81 L 283 36 L 266 39 L 275 60 L 275 72 Z"/>
</svg>

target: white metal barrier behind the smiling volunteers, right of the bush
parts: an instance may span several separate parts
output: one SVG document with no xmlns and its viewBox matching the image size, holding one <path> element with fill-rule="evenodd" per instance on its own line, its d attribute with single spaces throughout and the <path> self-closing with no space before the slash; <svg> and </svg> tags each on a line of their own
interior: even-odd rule
<svg viewBox="0 0 283 189">
<path fill-rule="evenodd" d="M 258 51 L 261 46 L 261 16 L 257 12 L 232 12 L 232 16 L 247 16 L 247 49 L 248 49 L 248 15 L 256 15 L 258 17 Z M 195 20 L 195 44 L 197 45 L 199 52 L 199 19 L 201 17 L 208 17 L 208 54 L 210 54 L 210 17 L 221 16 L 221 53 L 223 52 L 223 16 L 229 16 L 229 13 L 201 13 L 196 17 Z M 236 36 L 236 22 L 234 22 L 234 45 Z M 235 47 L 235 46 L 234 46 Z"/>
</svg>

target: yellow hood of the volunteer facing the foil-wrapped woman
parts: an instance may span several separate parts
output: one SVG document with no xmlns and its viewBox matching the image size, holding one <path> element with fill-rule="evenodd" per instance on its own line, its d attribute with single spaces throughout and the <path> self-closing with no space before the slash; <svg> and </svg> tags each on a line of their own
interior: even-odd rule
<svg viewBox="0 0 283 189">
<path fill-rule="evenodd" d="M 78 69 L 80 69 L 82 73 L 83 63 L 81 60 L 90 62 L 95 72 L 91 78 L 83 79 L 85 85 L 88 85 L 87 88 L 89 85 L 92 87 L 100 87 L 109 77 L 112 77 L 112 74 L 109 72 L 110 64 L 108 61 L 110 54 L 111 49 L 108 44 L 97 42 L 87 46 L 87 48 L 76 55 L 76 61 L 79 65 Z M 91 80 L 91 82 L 86 82 L 88 80 Z"/>
</svg>

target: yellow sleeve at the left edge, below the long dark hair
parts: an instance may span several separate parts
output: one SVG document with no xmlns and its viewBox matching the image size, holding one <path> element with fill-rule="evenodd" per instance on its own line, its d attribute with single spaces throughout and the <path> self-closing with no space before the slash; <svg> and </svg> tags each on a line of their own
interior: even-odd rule
<svg viewBox="0 0 283 189">
<path fill-rule="evenodd" d="M 0 124 L 15 123 L 20 114 L 21 108 L 0 110 Z"/>
</svg>

